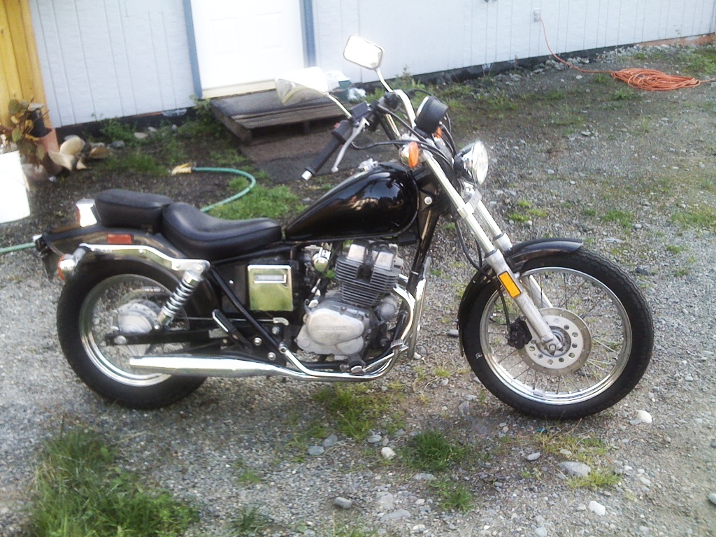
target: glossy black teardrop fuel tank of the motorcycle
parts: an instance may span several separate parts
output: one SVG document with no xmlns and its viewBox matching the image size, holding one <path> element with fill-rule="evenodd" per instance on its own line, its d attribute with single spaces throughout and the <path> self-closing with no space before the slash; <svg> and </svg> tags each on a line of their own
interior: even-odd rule
<svg viewBox="0 0 716 537">
<path fill-rule="evenodd" d="M 289 241 L 391 237 L 415 221 L 417 186 L 407 170 L 377 164 L 326 193 L 286 228 Z"/>
</svg>

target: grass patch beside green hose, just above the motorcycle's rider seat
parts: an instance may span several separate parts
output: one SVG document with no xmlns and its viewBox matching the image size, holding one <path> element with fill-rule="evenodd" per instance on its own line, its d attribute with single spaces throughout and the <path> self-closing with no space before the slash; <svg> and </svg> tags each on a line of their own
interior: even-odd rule
<svg viewBox="0 0 716 537">
<path fill-rule="evenodd" d="M 229 183 L 230 188 L 237 192 L 246 188 L 246 179 L 236 178 Z M 286 185 L 266 187 L 260 184 L 238 200 L 219 205 L 209 213 L 217 218 L 228 220 L 246 220 L 248 218 L 286 218 L 301 210 L 298 195 L 291 192 Z"/>
</svg>

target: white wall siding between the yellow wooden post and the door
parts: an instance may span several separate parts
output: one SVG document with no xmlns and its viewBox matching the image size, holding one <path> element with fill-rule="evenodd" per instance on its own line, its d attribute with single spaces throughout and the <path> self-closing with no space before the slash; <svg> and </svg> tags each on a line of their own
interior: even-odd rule
<svg viewBox="0 0 716 537">
<path fill-rule="evenodd" d="M 29 0 L 52 125 L 192 105 L 182 0 Z"/>
</svg>

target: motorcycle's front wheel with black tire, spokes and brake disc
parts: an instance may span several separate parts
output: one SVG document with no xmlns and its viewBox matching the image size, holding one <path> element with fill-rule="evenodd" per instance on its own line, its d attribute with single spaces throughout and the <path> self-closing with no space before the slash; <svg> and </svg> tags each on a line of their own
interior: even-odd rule
<svg viewBox="0 0 716 537">
<path fill-rule="evenodd" d="M 485 286 L 463 324 L 463 345 L 493 395 L 534 417 L 576 419 L 634 389 L 649 364 L 654 328 L 627 274 L 579 249 L 528 261 L 520 279 L 559 345 L 550 352 L 531 338 L 513 301 Z M 526 344 L 508 344 L 511 327 L 526 334 Z"/>
</svg>

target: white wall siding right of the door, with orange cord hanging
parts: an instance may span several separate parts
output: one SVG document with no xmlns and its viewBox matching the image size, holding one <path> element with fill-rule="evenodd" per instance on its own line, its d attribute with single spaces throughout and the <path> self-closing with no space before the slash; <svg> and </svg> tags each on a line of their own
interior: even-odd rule
<svg viewBox="0 0 716 537">
<path fill-rule="evenodd" d="M 314 0 L 316 63 L 354 81 L 374 80 L 342 59 L 350 34 L 386 50 L 393 77 L 546 56 L 540 9 L 554 52 L 716 32 L 714 0 Z"/>
</svg>

